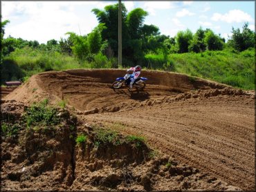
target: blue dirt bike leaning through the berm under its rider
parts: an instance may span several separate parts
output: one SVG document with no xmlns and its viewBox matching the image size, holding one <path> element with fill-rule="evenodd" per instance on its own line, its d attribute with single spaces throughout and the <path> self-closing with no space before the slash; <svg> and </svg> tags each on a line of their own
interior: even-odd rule
<svg viewBox="0 0 256 192">
<path fill-rule="evenodd" d="M 125 77 L 118 77 L 116 78 L 116 81 L 113 82 L 112 84 L 112 88 L 113 89 L 118 89 L 118 88 L 122 88 L 122 86 L 127 86 L 129 88 L 129 84 L 131 82 L 131 78 L 133 76 L 132 75 L 125 75 Z M 133 84 L 133 87 L 135 87 L 136 89 L 143 89 L 145 88 L 146 84 L 145 81 L 147 80 L 146 77 L 138 77 Z"/>
</svg>

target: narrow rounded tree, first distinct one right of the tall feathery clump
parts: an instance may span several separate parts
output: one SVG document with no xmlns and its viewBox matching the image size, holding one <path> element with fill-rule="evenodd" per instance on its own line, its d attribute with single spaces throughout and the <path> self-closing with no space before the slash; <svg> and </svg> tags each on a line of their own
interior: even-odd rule
<svg viewBox="0 0 256 192">
<path fill-rule="evenodd" d="M 192 41 L 193 34 L 187 29 L 184 32 L 179 31 L 176 35 L 176 44 L 179 47 L 179 52 L 188 52 L 188 46 L 190 46 L 190 42 Z"/>
</svg>

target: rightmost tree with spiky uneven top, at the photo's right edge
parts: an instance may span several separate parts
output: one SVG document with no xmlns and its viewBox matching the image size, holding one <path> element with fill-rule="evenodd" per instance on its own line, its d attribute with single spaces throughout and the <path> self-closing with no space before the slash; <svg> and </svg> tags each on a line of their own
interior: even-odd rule
<svg viewBox="0 0 256 192">
<path fill-rule="evenodd" d="M 255 47 L 255 32 L 248 28 L 248 23 L 243 26 L 242 32 L 239 28 L 232 28 L 232 36 L 229 44 L 238 51 L 243 51 L 248 48 Z"/>
</svg>

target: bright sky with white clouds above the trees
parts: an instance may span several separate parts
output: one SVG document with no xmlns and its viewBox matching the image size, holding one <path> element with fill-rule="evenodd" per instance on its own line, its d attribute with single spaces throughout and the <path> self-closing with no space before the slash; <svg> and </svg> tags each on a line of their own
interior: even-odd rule
<svg viewBox="0 0 256 192">
<path fill-rule="evenodd" d="M 196 32 L 201 26 L 228 39 L 232 27 L 241 28 L 245 22 L 255 30 L 255 1 L 122 1 L 128 12 L 143 8 L 149 15 L 145 24 L 158 26 L 161 34 L 174 37 L 187 28 Z M 98 20 L 93 8 L 118 1 L 1 1 L 2 21 L 8 19 L 6 35 L 40 44 L 51 39 L 66 38 L 66 32 L 86 35 Z"/>
</svg>

